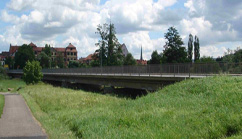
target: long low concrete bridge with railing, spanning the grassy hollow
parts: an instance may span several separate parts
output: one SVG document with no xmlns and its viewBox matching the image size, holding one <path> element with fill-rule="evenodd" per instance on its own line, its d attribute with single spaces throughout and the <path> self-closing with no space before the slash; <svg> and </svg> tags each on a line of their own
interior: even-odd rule
<svg viewBox="0 0 242 139">
<path fill-rule="evenodd" d="M 237 65 L 241 66 L 241 64 Z M 117 86 L 156 90 L 167 84 L 188 78 L 204 78 L 221 72 L 231 65 L 218 64 L 165 64 L 147 66 L 119 66 L 73 69 L 43 69 L 43 80 L 65 83 Z M 230 75 L 241 75 L 241 70 Z M 9 76 L 21 77 L 22 70 L 9 70 Z"/>
</svg>

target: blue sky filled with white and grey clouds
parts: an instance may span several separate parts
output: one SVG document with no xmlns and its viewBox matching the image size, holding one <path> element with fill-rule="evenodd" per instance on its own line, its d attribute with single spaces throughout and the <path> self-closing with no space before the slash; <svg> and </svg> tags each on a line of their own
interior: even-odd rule
<svg viewBox="0 0 242 139">
<path fill-rule="evenodd" d="M 120 43 L 135 58 L 163 51 L 164 34 L 174 26 L 187 47 L 200 39 L 201 56 L 223 56 L 242 48 L 242 0 L 1 0 L 0 52 L 10 44 L 77 47 L 78 57 L 97 49 L 97 25 L 115 25 Z"/>
</svg>

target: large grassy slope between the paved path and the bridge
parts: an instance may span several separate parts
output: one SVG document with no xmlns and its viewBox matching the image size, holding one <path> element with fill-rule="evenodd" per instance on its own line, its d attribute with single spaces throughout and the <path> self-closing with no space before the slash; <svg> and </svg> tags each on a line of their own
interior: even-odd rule
<svg viewBox="0 0 242 139">
<path fill-rule="evenodd" d="M 49 138 L 242 138 L 242 77 L 186 80 L 136 100 L 43 83 L 19 93 Z"/>
</svg>

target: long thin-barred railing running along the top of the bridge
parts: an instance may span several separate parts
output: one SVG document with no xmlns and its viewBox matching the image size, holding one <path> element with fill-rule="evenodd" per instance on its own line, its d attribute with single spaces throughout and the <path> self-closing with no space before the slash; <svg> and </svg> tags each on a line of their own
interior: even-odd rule
<svg viewBox="0 0 242 139">
<path fill-rule="evenodd" d="M 22 70 L 9 70 L 21 73 Z M 117 76 L 209 76 L 219 73 L 242 74 L 242 63 L 181 63 L 91 68 L 43 69 L 43 74 L 117 75 Z"/>
</svg>

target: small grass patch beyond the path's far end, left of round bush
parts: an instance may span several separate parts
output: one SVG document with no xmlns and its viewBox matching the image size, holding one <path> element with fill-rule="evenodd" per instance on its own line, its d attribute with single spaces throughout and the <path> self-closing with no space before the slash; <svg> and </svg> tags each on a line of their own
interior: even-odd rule
<svg viewBox="0 0 242 139">
<path fill-rule="evenodd" d="M 23 88 L 25 86 L 25 82 L 20 79 L 7 79 L 0 80 L 0 92 L 16 92 L 18 88 Z M 8 91 L 8 88 L 12 88 L 12 91 Z"/>
</svg>

